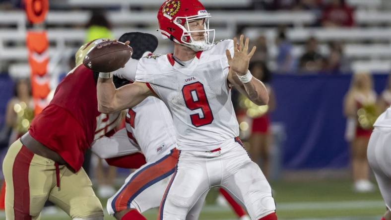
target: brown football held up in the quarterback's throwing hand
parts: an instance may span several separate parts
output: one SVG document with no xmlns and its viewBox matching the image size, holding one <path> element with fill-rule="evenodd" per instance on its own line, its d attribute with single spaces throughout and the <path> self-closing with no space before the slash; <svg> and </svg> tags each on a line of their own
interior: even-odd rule
<svg viewBox="0 0 391 220">
<path fill-rule="evenodd" d="M 103 41 L 84 56 L 83 64 L 96 72 L 113 72 L 124 67 L 133 49 L 118 41 Z"/>
</svg>

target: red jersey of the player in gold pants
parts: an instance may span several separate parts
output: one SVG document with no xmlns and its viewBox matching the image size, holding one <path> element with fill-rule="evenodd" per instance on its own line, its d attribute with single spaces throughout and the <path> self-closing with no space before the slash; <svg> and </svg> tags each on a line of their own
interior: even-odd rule
<svg viewBox="0 0 391 220">
<path fill-rule="evenodd" d="M 79 65 L 58 85 L 49 106 L 32 121 L 29 133 L 78 171 L 92 142 L 114 129 L 120 119 L 120 113 L 98 111 L 93 71 Z"/>
</svg>

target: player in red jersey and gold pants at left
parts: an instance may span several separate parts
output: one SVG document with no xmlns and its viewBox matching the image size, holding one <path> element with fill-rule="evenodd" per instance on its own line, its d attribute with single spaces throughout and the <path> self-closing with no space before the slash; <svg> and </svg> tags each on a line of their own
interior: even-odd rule
<svg viewBox="0 0 391 220">
<path fill-rule="evenodd" d="M 77 66 L 58 85 L 49 106 L 9 147 L 3 162 L 7 220 L 39 219 L 47 200 L 73 220 L 103 220 L 102 205 L 81 167 L 85 150 L 121 119 L 119 112 L 97 110 L 98 73 L 81 64 L 86 52 L 101 41 L 79 49 Z"/>
</svg>

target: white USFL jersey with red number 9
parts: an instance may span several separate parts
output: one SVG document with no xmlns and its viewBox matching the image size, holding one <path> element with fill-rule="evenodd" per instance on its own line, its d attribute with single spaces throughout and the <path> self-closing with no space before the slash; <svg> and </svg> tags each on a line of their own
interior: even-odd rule
<svg viewBox="0 0 391 220">
<path fill-rule="evenodd" d="M 179 150 L 211 151 L 239 135 L 227 81 L 227 49 L 233 55 L 232 40 L 217 42 L 186 66 L 170 54 L 143 57 L 138 63 L 136 81 L 147 83 L 171 111 Z"/>
</svg>

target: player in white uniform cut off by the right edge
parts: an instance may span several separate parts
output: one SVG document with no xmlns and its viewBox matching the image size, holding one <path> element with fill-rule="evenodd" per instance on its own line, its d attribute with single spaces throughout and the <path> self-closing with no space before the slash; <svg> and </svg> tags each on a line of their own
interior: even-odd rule
<svg viewBox="0 0 391 220">
<path fill-rule="evenodd" d="M 380 193 L 386 202 L 387 212 L 382 220 L 391 220 L 391 108 L 389 107 L 376 120 L 369 139 L 367 157 L 375 173 Z"/>
</svg>

